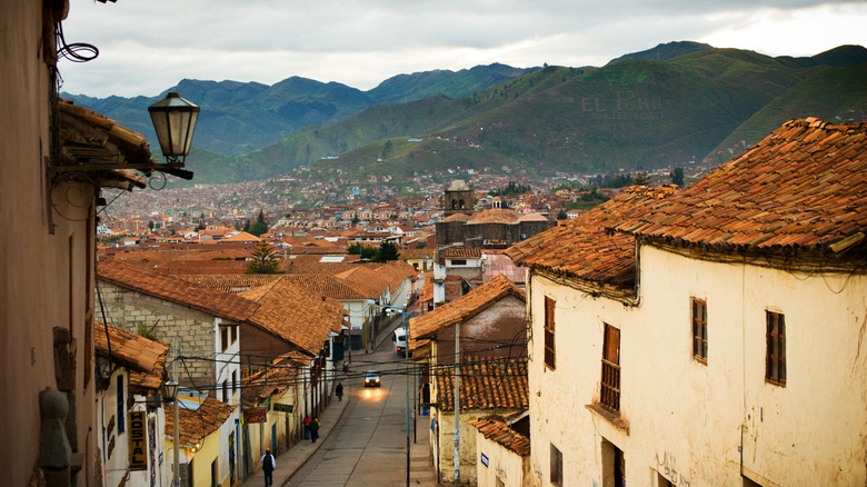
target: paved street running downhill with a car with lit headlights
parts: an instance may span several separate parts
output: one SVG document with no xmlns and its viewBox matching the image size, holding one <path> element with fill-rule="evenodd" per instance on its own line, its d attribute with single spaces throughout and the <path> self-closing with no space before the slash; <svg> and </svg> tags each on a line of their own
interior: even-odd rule
<svg viewBox="0 0 867 487">
<path fill-rule="evenodd" d="M 285 486 L 402 486 L 407 483 L 407 381 L 405 361 L 395 354 L 390 334 L 380 335 L 377 351 L 353 355 L 342 379 L 346 410 L 322 445 Z M 363 371 L 382 374 L 379 388 L 365 388 Z M 411 379 L 411 378 L 410 378 Z M 410 404 L 413 386 L 410 385 Z M 330 407 L 337 407 L 332 402 Z M 428 418 L 410 419 L 410 485 L 437 486 L 428 461 Z M 325 425 L 323 425 L 325 426 Z M 417 440 L 413 444 L 413 439 Z"/>
</svg>

